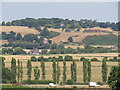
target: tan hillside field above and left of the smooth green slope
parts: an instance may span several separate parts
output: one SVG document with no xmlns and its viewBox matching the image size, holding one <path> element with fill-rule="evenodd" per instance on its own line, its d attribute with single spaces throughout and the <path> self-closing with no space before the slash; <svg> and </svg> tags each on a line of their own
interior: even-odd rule
<svg viewBox="0 0 120 90">
<path fill-rule="evenodd" d="M 69 37 L 73 38 L 74 42 L 82 42 L 83 39 L 85 39 L 87 36 L 94 36 L 94 35 L 109 35 L 110 33 L 97 33 L 97 32 L 65 32 L 62 31 L 61 29 L 49 29 L 50 31 L 55 31 L 55 32 L 59 32 L 60 35 L 57 37 L 52 38 L 51 40 L 55 43 L 59 43 L 59 42 L 67 42 Z M 106 29 L 109 30 L 109 29 Z M 111 31 L 114 35 L 118 35 L 117 31 Z"/>
</svg>

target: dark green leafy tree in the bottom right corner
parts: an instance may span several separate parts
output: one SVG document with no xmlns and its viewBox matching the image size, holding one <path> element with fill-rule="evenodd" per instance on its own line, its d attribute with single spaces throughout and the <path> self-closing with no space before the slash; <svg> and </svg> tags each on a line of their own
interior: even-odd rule
<svg viewBox="0 0 120 90">
<path fill-rule="evenodd" d="M 112 90 L 120 90 L 120 66 L 113 66 L 111 68 L 108 84 Z"/>
</svg>

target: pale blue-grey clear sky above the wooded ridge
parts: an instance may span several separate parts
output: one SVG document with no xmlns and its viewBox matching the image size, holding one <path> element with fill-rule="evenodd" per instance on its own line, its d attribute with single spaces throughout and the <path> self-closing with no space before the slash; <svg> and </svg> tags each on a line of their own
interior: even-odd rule
<svg viewBox="0 0 120 90">
<path fill-rule="evenodd" d="M 117 2 L 3 2 L 2 21 L 24 18 L 118 21 Z"/>
</svg>

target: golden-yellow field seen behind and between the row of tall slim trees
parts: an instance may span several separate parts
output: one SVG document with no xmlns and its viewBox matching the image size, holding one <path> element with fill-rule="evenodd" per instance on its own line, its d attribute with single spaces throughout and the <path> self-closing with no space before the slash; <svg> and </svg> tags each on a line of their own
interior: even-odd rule
<svg viewBox="0 0 120 90">
<path fill-rule="evenodd" d="M 109 58 L 112 58 L 112 56 L 117 56 L 116 53 L 113 53 L 113 54 L 87 54 L 87 55 L 94 55 L 95 56 L 111 56 Z M 86 55 L 86 56 L 87 56 Z M 59 55 L 50 55 L 51 57 L 52 56 L 59 56 Z M 61 56 L 64 56 L 64 55 L 61 55 Z M 72 55 L 74 58 L 80 58 L 81 55 L 78 54 L 78 57 L 77 55 Z M 82 56 L 85 56 L 85 54 L 82 54 Z M 3 57 L 6 58 L 5 60 L 5 65 L 7 67 L 10 67 L 10 61 L 11 61 L 11 58 L 14 57 L 16 58 L 17 60 L 21 60 L 23 62 L 23 67 L 24 67 L 24 79 L 27 79 L 27 68 L 26 68 L 26 65 L 27 65 L 27 60 L 30 59 L 30 55 L 27 56 L 27 55 L 3 55 Z M 36 56 L 38 57 L 38 56 Z M 48 57 L 48 55 L 46 55 L 45 57 Z M 87 57 L 87 58 L 91 58 L 91 57 Z M 103 58 L 103 57 L 98 57 L 98 58 Z M 71 72 L 70 72 L 70 65 L 72 62 L 66 62 L 67 64 L 67 79 L 70 79 L 71 78 Z M 102 81 L 101 79 L 101 62 L 92 62 L 92 79 L 91 81 L 95 81 L 95 82 L 100 82 Z M 52 80 L 52 62 L 45 62 L 45 65 L 46 65 L 46 79 L 47 80 Z M 62 71 L 63 71 L 63 62 L 59 62 L 59 65 L 60 65 L 60 69 L 61 69 L 61 77 L 60 77 L 60 81 L 62 81 Z M 114 65 L 118 65 L 117 62 L 107 62 L 107 65 L 109 66 L 108 67 L 108 72 L 110 72 L 110 68 L 111 66 L 114 66 Z M 32 67 L 35 67 L 35 66 L 38 66 L 39 69 L 40 69 L 40 62 L 32 62 Z M 41 78 L 41 77 L 40 77 Z M 34 79 L 34 71 L 32 71 L 32 79 Z M 80 61 L 77 61 L 77 82 L 83 82 L 83 69 L 82 69 L 82 62 Z"/>
</svg>

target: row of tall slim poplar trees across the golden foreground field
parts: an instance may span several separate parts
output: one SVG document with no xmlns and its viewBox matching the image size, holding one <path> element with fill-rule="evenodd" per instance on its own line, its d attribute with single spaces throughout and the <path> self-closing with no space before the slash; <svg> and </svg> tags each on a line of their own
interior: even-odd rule
<svg viewBox="0 0 120 90">
<path fill-rule="evenodd" d="M 5 58 L 1 57 L 2 60 L 2 75 L 3 75 L 3 82 L 11 82 L 11 83 L 20 83 L 23 81 L 23 65 L 22 65 L 22 61 L 17 60 L 15 58 L 12 58 L 11 60 L 11 68 L 8 69 L 5 67 Z M 104 83 L 107 83 L 107 76 L 108 76 L 108 66 L 106 64 L 107 61 L 107 57 L 103 58 L 102 60 L 102 81 Z M 40 67 L 35 66 L 34 67 L 34 80 L 39 81 L 40 80 L 40 76 L 41 76 L 41 80 L 45 81 L 46 80 L 46 65 L 44 61 L 41 61 L 40 63 Z M 91 61 L 88 59 L 83 58 L 83 82 L 84 83 L 88 83 L 91 81 Z M 41 68 L 41 69 L 39 69 Z M 53 82 L 56 84 L 60 84 L 60 78 L 62 75 L 62 82 L 63 84 L 69 83 L 67 80 L 67 65 L 66 65 L 66 61 L 63 61 L 63 67 L 62 67 L 63 71 L 61 72 L 61 67 L 59 65 L 58 61 L 53 61 L 52 63 L 52 77 L 53 77 Z M 77 82 L 77 77 L 79 77 L 79 75 L 77 74 L 77 64 L 76 64 L 76 60 L 72 60 L 72 63 L 70 65 L 71 68 L 71 81 L 72 83 L 76 83 Z M 28 60 L 27 62 L 27 80 L 28 81 L 32 81 L 32 62 L 31 60 Z M 40 71 L 41 70 L 41 71 Z M 9 75 L 8 75 L 9 74 Z"/>
</svg>

